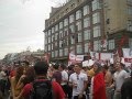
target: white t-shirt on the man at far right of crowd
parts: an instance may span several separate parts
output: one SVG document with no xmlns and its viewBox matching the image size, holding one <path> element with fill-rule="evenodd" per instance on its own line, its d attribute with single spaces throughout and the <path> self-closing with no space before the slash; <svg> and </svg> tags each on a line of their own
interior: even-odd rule
<svg viewBox="0 0 132 99">
<path fill-rule="evenodd" d="M 113 75 L 113 79 L 116 81 L 116 90 L 121 90 L 121 86 L 124 79 L 128 78 L 128 73 L 125 70 L 116 72 Z"/>
</svg>

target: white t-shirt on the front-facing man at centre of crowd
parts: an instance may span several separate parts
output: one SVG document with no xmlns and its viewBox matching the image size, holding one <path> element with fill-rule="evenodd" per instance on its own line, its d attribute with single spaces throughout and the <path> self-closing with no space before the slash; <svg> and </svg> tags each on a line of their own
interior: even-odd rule
<svg viewBox="0 0 132 99">
<path fill-rule="evenodd" d="M 76 82 L 77 87 L 73 88 L 73 96 L 78 96 L 82 88 L 84 88 L 84 81 L 87 81 L 87 75 L 84 73 L 80 73 L 79 75 L 77 75 L 76 73 L 72 74 L 69 76 L 69 82 Z"/>
</svg>

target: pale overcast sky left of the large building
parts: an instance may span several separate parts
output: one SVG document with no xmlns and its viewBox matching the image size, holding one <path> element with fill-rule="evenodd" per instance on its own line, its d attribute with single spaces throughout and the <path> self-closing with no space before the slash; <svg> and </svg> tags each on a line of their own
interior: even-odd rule
<svg viewBox="0 0 132 99">
<path fill-rule="evenodd" d="M 44 23 L 51 7 L 65 0 L 0 0 L 0 59 L 8 53 L 44 50 Z"/>
</svg>

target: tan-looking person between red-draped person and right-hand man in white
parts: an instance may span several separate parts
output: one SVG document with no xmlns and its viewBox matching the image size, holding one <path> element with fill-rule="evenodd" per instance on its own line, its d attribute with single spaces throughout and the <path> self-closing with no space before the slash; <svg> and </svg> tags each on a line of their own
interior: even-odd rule
<svg viewBox="0 0 132 99">
<path fill-rule="evenodd" d="M 106 82 L 106 92 L 107 92 L 107 99 L 111 99 L 111 88 L 112 85 L 112 74 L 109 70 L 109 67 L 107 65 L 103 65 L 103 74 L 105 74 L 105 82 Z"/>
</svg>

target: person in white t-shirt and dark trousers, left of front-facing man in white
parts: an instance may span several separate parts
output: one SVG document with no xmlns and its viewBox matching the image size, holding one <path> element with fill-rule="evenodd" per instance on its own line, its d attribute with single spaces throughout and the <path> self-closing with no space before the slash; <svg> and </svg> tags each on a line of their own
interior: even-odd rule
<svg viewBox="0 0 132 99">
<path fill-rule="evenodd" d="M 66 66 L 64 64 L 61 64 L 58 69 L 62 73 L 62 82 L 61 82 L 62 88 L 64 89 L 66 97 L 68 97 L 67 96 L 68 95 L 68 86 L 67 86 L 67 84 L 68 84 L 68 73 L 65 70 Z"/>
</svg>

